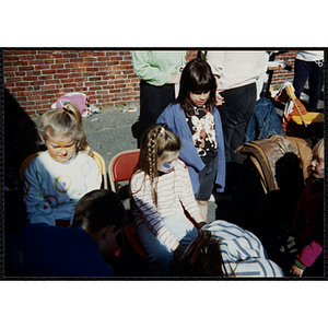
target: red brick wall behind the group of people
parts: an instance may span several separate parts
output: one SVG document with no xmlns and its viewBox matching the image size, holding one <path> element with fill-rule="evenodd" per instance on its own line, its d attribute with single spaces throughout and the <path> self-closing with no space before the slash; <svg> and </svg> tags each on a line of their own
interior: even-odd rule
<svg viewBox="0 0 328 328">
<path fill-rule="evenodd" d="M 290 60 L 294 52 L 277 58 Z M 187 51 L 187 61 L 196 56 L 196 50 Z M 28 115 L 48 110 L 69 92 L 87 94 L 97 107 L 139 103 L 139 79 L 128 50 L 4 50 L 3 77 L 4 86 Z M 293 71 L 274 72 L 271 85 L 292 77 Z"/>
</svg>

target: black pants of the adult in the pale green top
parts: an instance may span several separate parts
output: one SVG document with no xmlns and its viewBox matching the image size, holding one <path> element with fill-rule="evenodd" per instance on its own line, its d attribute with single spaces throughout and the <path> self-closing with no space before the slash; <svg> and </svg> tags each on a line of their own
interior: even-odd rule
<svg viewBox="0 0 328 328">
<path fill-rule="evenodd" d="M 140 116 L 139 121 L 132 126 L 132 133 L 138 139 L 138 145 L 144 131 L 156 122 L 162 112 L 174 99 L 174 84 L 155 86 L 145 81 L 140 82 Z"/>
</svg>

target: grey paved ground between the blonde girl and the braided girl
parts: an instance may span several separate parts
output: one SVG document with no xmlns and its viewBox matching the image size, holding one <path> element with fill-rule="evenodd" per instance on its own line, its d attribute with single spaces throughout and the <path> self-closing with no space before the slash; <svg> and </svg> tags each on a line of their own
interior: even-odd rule
<svg viewBox="0 0 328 328">
<path fill-rule="evenodd" d="M 137 149 L 131 126 L 138 120 L 138 112 L 124 112 L 122 107 L 106 107 L 98 114 L 83 118 L 86 140 L 98 152 L 108 167 L 112 159 L 121 151 Z M 215 203 L 209 204 L 208 222 L 215 218 Z"/>
</svg>

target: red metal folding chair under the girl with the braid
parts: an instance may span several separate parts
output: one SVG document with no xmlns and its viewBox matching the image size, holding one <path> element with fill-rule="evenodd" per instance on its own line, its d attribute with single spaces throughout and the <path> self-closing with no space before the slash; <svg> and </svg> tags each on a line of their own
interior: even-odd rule
<svg viewBox="0 0 328 328">
<path fill-rule="evenodd" d="M 109 175 L 109 184 L 113 191 L 118 194 L 121 200 L 130 198 L 129 192 L 120 192 L 122 191 L 122 187 L 128 187 L 128 185 L 119 184 L 126 183 L 130 179 L 133 169 L 139 160 L 139 150 L 124 151 L 118 153 L 110 161 L 108 165 L 108 175 Z M 124 233 L 131 244 L 131 246 L 136 249 L 136 251 L 147 260 L 147 254 L 138 238 L 136 224 L 129 223 L 124 227 Z"/>
</svg>

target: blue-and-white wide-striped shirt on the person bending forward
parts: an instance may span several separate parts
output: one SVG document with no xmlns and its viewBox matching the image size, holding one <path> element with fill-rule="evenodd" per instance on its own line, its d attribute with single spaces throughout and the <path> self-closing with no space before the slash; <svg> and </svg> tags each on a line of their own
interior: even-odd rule
<svg viewBox="0 0 328 328">
<path fill-rule="evenodd" d="M 203 230 L 221 238 L 221 253 L 229 273 L 235 277 L 283 277 L 281 268 L 268 259 L 259 238 L 243 227 L 218 220 Z"/>
</svg>

